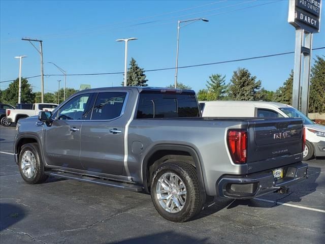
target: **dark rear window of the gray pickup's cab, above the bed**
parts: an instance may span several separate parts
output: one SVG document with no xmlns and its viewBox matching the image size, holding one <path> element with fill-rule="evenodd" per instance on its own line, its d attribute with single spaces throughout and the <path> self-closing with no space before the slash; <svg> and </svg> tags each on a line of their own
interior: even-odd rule
<svg viewBox="0 0 325 244">
<path fill-rule="evenodd" d="M 141 93 L 137 118 L 173 118 L 200 116 L 194 95 Z"/>
</svg>

